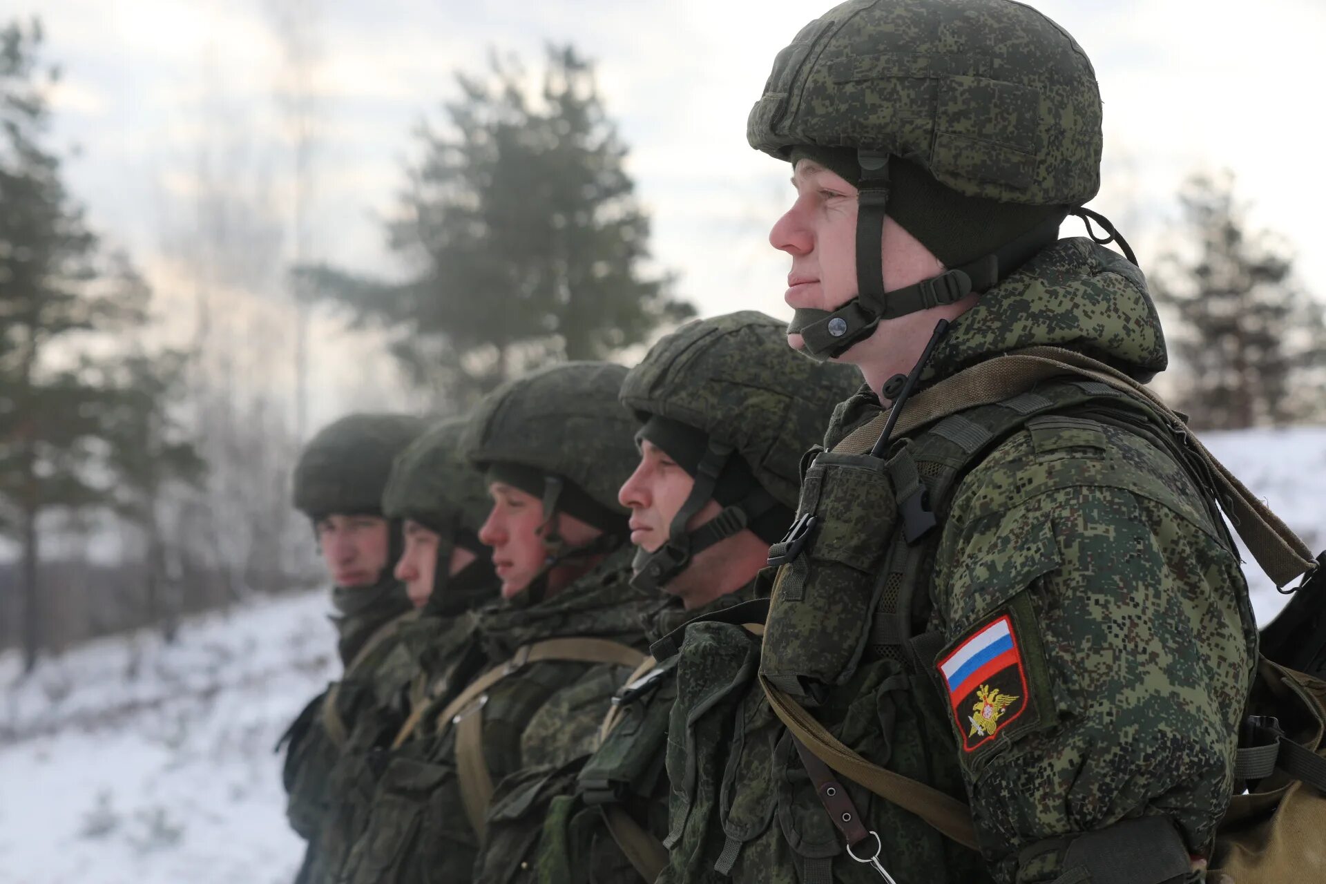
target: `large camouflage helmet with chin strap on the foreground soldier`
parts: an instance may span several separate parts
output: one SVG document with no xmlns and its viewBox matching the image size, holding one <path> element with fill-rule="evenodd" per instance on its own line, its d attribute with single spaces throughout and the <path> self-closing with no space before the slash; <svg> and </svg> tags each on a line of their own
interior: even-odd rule
<svg viewBox="0 0 1326 884">
<path fill-rule="evenodd" d="M 789 326 L 817 358 L 842 355 L 880 319 L 992 288 L 1053 241 L 1069 207 L 1101 184 L 1091 62 L 1066 30 L 1014 0 L 834 7 L 778 53 L 747 139 L 784 160 L 805 147 L 857 155 L 858 296 L 833 311 L 798 309 Z M 988 253 L 888 290 L 879 249 L 869 244 L 883 233 L 890 160 L 906 160 L 899 172 L 919 167 L 960 197 L 1048 211 Z"/>
</svg>

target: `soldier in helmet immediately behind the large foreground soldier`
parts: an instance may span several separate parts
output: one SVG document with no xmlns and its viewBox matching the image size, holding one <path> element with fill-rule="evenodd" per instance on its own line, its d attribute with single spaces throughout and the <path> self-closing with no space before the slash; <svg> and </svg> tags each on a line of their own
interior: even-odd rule
<svg viewBox="0 0 1326 884">
<path fill-rule="evenodd" d="M 631 510 L 633 582 L 671 599 L 651 641 L 758 594 L 769 543 L 792 522 L 801 453 L 857 386 L 849 366 L 798 357 L 782 323 L 749 311 L 691 322 L 631 368 L 621 402 L 636 417 L 639 457 L 618 500 Z M 651 663 L 618 691 L 583 766 L 545 774 L 537 799 L 524 777 L 508 781 L 477 881 L 533 880 L 536 868 L 552 884 L 654 881 L 667 856 L 675 689 L 671 664 Z"/>
</svg>

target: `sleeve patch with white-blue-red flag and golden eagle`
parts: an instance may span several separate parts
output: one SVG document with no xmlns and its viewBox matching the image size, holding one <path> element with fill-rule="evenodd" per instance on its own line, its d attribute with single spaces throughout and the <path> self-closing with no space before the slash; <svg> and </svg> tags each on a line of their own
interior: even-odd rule
<svg viewBox="0 0 1326 884">
<path fill-rule="evenodd" d="M 1018 592 L 935 661 L 964 754 L 1006 745 L 1053 722 L 1032 600 Z"/>
</svg>

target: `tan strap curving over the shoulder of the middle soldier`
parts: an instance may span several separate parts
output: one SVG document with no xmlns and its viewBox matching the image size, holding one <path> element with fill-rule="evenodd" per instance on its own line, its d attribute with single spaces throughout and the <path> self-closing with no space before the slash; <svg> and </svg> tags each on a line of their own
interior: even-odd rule
<svg viewBox="0 0 1326 884">
<path fill-rule="evenodd" d="M 443 708 L 438 714 L 438 733 L 451 725 L 456 728 L 456 778 L 460 781 L 460 801 L 465 806 L 469 827 L 480 840 L 488 832 L 488 806 L 493 797 L 492 774 L 484 755 L 481 714 L 488 702 L 488 691 L 530 663 L 606 663 L 635 668 L 644 659 L 646 656 L 635 648 L 610 639 L 546 639 L 521 645 L 511 660 L 475 679 Z"/>
</svg>

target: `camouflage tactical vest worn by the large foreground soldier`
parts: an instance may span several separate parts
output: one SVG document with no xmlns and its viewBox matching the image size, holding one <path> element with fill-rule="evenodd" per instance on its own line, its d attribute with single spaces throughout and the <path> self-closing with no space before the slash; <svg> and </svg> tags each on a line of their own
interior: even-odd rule
<svg viewBox="0 0 1326 884">
<path fill-rule="evenodd" d="M 1074 357 L 1063 351 L 1048 355 Z M 765 812 L 772 816 L 776 808 L 784 822 L 784 840 L 794 854 L 800 880 L 827 880 L 830 873 L 849 873 L 850 864 L 831 864 L 833 857 L 842 852 L 838 844 L 843 836 L 855 847 L 853 857 L 863 864 L 869 863 L 873 855 L 879 855 L 880 842 L 866 842 L 867 835 L 886 842 L 884 855 L 904 857 L 899 868 L 927 868 L 935 880 L 984 880 L 988 875 L 973 852 L 968 851 L 965 857 L 953 856 L 951 851 L 947 856 L 927 857 L 920 855 L 924 846 L 920 850 L 912 848 L 936 831 L 951 839 L 949 847 L 956 842 L 975 848 L 969 812 L 959 798 L 963 795 L 956 761 L 959 753 L 952 745 L 953 737 L 945 718 L 947 710 L 940 701 L 940 691 L 930 684 L 935 676 L 935 652 L 943 644 L 939 639 L 939 627 L 943 624 L 935 622 L 930 610 L 928 588 L 940 534 L 936 529 L 948 517 L 953 492 L 961 477 L 1000 443 L 1026 429 L 1033 440 L 1040 437 L 1045 445 L 1069 448 L 1093 435 L 1099 436 L 1102 424 L 1122 427 L 1143 436 L 1185 468 L 1201 489 L 1208 526 L 1215 527 L 1225 538 L 1227 546 L 1233 549 L 1215 502 L 1215 489 L 1228 490 L 1232 488 L 1229 481 L 1233 480 L 1224 473 L 1213 474 L 1212 463 L 1203 456 L 1200 444 L 1193 443 L 1189 448 L 1179 443 L 1172 432 L 1181 431 L 1177 419 L 1172 423 L 1166 420 L 1168 412 L 1152 407 L 1152 403 L 1143 402 L 1131 391 L 1123 392 L 1116 379 L 1107 374 L 1065 376 L 1078 374 L 1078 367 L 1045 357 L 1046 354 L 1029 351 L 1026 360 L 1040 360 L 1034 366 L 1040 375 L 1030 378 L 1032 383 L 1024 383 L 1024 392 L 1017 395 L 1008 395 L 1008 378 L 996 376 L 991 382 L 988 372 L 981 372 L 975 384 L 971 376 L 951 379 L 953 383 L 948 384 L 948 390 L 935 391 L 928 402 L 919 396 L 919 407 L 903 412 L 903 429 L 899 435 L 906 436 L 920 428 L 919 432 L 895 444 L 883 460 L 862 453 L 870 451 L 879 435 L 880 421 L 873 421 L 839 443 L 833 452 L 819 452 L 806 469 L 798 518 L 789 535 L 770 550 L 770 563 L 777 562 L 782 567 L 764 651 L 762 655 L 756 652 L 756 656 L 762 656 L 760 681 L 770 709 L 802 744 L 812 744 L 814 758 L 806 758 L 812 753 L 801 753 L 805 767 L 810 770 L 810 762 L 815 759 L 827 762 L 827 767 L 818 765 L 825 775 L 810 770 L 818 795 L 815 790 L 810 790 L 809 804 L 814 807 L 822 802 L 830 808 L 839 830 L 831 847 L 823 839 L 812 844 L 814 839 L 808 838 L 804 819 L 802 831 L 792 831 L 785 820 L 794 820 L 796 814 L 789 811 L 788 803 L 770 801 Z M 1107 368 L 1105 371 L 1109 372 Z M 1090 375 L 1090 371 L 1083 374 Z M 965 384 L 963 395 L 956 396 L 957 407 L 953 407 L 952 396 L 955 384 Z M 943 382 L 937 384 L 941 386 Z M 949 394 L 947 400 L 944 392 Z M 1252 502 L 1250 494 L 1237 486 L 1236 481 L 1235 486 L 1240 492 L 1240 501 L 1227 502 L 1235 502 L 1238 516 L 1248 517 L 1240 520 L 1241 525 L 1246 524 L 1244 526 L 1252 533 L 1265 535 L 1261 539 L 1278 537 L 1284 541 L 1288 529 Z M 1302 562 L 1310 562 L 1301 543 L 1296 547 L 1288 541 L 1281 542 L 1265 558 L 1257 547 L 1266 549 L 1268 543 L 1250 545 L 1273 577 L 1277 577 L 1277 570 L 1281 575 L 1299 573 Z M 1288 553 L 1286 546 L 1290 547 Z M 1299 570 L 1286 571 L 1290 567 Z M 1030 579 L 1036 574 L 1025 577 Z M 719 626 L 701 628 L 717 630 Z M 725 641 L 731 644 L 733 639 L 728 637 Z M 749 655 L 744 663 L 733 661 L 731 676 L 737 680 L 751 677 Z M 850 729 L 850 716 L 843 720 L 847 710 L 838 708 L 821 709 L 815 714 L 808 712 L 808 708 L 834 702 L 835 696 L 853 696 L 862 688 L 890 694 L 894 733 L 886 742 L 891 745 L 882 746 L 882 753 L 870 753 L 888 757 L 887 769 L 878 767 L 847 749 L 817 721 L 833 720 L 842 729 Z M 700 693 L 711 697 L 719 691 L 721 689 L 713 684 L 700 687 Z M 691 709 L 692 705 L 683 697 L 679 708 Z M 904 712 L 908 708 L 910 712 Z M 760 814 L 745 814 L 747 820 L 753 822 L 745 831 L 743 826 L 735 824 L 736 802 L 727 799 L 737 782 L 732 771 L 747 771 L 741 779 L 743 791 L 754 793 L 758 799 L 760 793 L 774 791 L 770 785 L 761 785 L 760 774 L 754 773 L 761 761 L 781 770 L 786 769 L 792 754 L 798 751 L 797 741 L 777 741 L 762 750 L 762 759 L 756 758 L 760 753 L 752 754 L 741 745 L 743 725 L 749 730 L 754 714 L 754 704 L 745 702 L 729 732 L 709 737 L 731 741 L 736 753 L 729 757 L 721 786 L 725 804 L 721 808 L 721 822 L 727 842 L 716 864 L 719 872 L 731 871 L 744 844 L 762 831 Z M 688 729 L 688 742 L 703 742 L 690 729 L 693 724 L 693 720 L 674 721 L 678 730 Z M 900 724 L 908 724 L 916 730 L 899 732 Z M 907 747 L 914 740 L 941 749 L 920 753 L 919 758 L 908 757 Z M 851 742 L 846 734 L 845 741 Z M 784 745 L 785 742 L 792 742 L 792 746 Z M 674 804 L 674 830 L 670 835 L 672 844 L 683 838 L 687 827 L 693 783 L 705 775 L 717 775 L 717 771 L 692 770 L 703 765 L 703 758 L 697 765 L 687 763 L 684 773 L 674 782 L 674 789 L 680 791 L 680 802 Z M 845 782 L 838 782 L 834 771 L 845 774 Z M 678 775 L 678 771 L 672 773 L 674 777 Z M 874 795 L 886 797 L 886 803 L 880 806 L 874 802 L 870 794 L 865 794 L 862 785 Z M 835 798 L 837 810 L 826 793 Z M 843 798 L 849 801 L 843 802 Z M 866 816 L 880 823 L 878 832 L 866 832 L 861 827 L 862 815 L 851 812 L 857 807 L 869 807 Z M 903 810 L 907 812 L 900 812 Z M 823 810 L 819 815 L 822 819 L 830 816 Z M 842 824 L 853 816 L 857 818 L 854 826 Z M 919 824 L 916 816 L 926 819 L 930 826 Z M 899 832 L 903 834 L 902 839 L 898 838 Z M 967 868 L 960 871 L 960 867 Z M 684 879 L 687 875 L 683 872 L 679 877 Z M 878 881 L 879 877 L 871 872 L 861 880 Z"/>
</svg>

